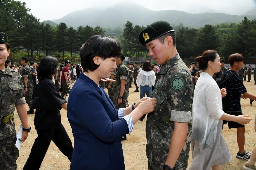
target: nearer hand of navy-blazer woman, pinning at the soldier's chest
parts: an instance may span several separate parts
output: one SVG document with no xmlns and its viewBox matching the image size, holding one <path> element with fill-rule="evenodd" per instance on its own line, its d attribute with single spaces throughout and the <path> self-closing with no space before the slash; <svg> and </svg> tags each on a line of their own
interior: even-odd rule
<svg viewBox="0 0 256 170">
<path fill-rule="evenodd" d="M 155 110 L 156 104 L 156 98 L 149 98 L 140 103 L 137 108 L 142 112 L 143 115 L 145 115 L 153 112 Z"/>
</svg>

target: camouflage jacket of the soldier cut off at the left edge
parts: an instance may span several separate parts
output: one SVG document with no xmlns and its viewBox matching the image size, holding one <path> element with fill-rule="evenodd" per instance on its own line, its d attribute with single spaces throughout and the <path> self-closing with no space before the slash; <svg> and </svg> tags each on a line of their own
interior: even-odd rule
<svg viewBox="0 0 256 170">
<path fill-rule="evenodd" d="M 5 64 L 5 71 L 0 70 L 0 117 L 14 113 L 15 106 L 26 103 L 23 81 L 19 73 Z M 0 124 L 0 141 L 16 134 L 14 120 Z"/>
</svg>

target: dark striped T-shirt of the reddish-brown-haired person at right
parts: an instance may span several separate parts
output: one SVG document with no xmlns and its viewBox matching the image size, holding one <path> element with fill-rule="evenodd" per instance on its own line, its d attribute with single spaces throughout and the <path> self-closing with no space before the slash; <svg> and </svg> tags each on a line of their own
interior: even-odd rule
<svg viewBox="0 0 256 170">
<path fill-rule="evenodd" d="M 235 71 L 226 70 L 225 77 L 227 77 L 231 73 L 235 73 Z M 241 115 L 241 94 L 247 91 L 240 76 L 238 76 L 237 74 L 233 75 L 226 81 L 226 91 L 229 103 L 229 107 L 226 113 L 230 115 Z"/>
</svg>

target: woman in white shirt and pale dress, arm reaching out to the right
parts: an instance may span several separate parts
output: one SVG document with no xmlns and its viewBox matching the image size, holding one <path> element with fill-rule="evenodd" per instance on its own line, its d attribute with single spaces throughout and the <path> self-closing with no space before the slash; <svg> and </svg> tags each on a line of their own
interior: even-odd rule
<svg viewBox="0 0 256 170">
<path fill-rule="evenodd" d="M 220 71 L 220 56 L 217 51 L 205 51 L 196 58 L 203 73 L 195 85 L 192 118 L 192 158 L 190 170 L 223 169 L 232 156 L 222 136 L 222 120 L 247 124 L 249 115 L 233 116 L 222 110 L 222 97 L 226 96 L 225 88 L 219 89 L 212 78 Z"/>
</svg>

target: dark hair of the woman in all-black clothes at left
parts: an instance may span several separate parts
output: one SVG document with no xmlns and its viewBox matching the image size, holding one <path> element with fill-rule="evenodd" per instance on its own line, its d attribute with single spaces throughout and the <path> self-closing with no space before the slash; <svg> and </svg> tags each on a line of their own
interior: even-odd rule
<svg viewBox="0 0 256 170">
<path fill-rule="evenodd" d="M 56 73 L 58 67 L 58 60 L 51 56 L 44 57 L 37 67 L 37 77 L 52 79 L 52 74 Z"/>
</svg>

